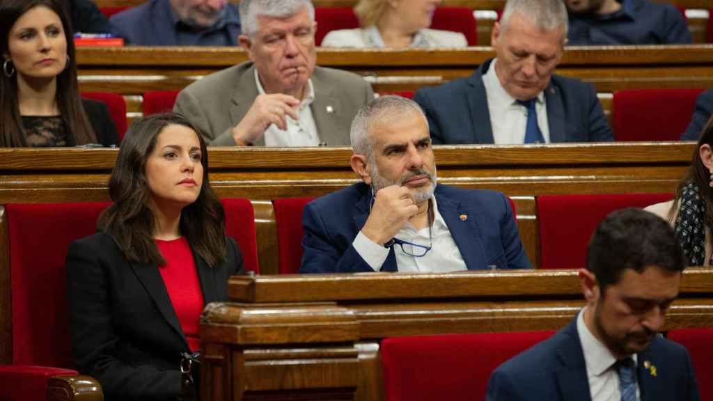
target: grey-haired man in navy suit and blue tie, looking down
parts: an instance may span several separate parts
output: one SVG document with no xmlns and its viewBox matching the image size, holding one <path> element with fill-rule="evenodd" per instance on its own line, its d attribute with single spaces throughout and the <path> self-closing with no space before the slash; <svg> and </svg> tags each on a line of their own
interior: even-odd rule
<svg viewBox="0 0 713 401">
<path fill-rule="evenodd" d="M 434 144 L 612 141 L 594 86 L 554 75 L 567 41 L 562 0 L 508 0 L 472 76 L 416 91 Z"/>
</svg>

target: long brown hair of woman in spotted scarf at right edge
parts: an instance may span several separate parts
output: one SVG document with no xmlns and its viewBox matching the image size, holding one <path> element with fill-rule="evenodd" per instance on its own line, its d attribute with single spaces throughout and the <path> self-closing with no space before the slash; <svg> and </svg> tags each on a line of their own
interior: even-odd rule
<svg viewBox="0 0 713 401">
<path fill-rule="evenodd" d="M 689 184 L 694 183 L 698 187 L 698 193 L 706 203 L 706 220 L 704 225 L 713 227 L 713 188 L 709 185 L 711 182 L 711 173 L 701 160 L 699 149 L 702 145 L 708 145 L 713 148 L 713 117 L 709 118 L 708 123 L 703 127 L 701 135 L 698 138 L 698 144 L 693 149 L 693 157 L 691 159 L 691 167 L 688 169 L 686 176 L 679 181 L 676 188 L 676 198 L 669 212 L 668 220 L 671 221 L 676 213 L 683 196 L 683 189 Z"/>
</svg>

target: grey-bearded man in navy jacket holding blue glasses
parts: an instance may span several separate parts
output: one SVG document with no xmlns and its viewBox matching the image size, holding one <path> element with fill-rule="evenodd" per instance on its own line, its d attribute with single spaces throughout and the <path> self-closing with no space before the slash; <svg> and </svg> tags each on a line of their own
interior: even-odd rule
<svg viewBox="0 0 713 401">
<path fill-rule="evenodd" d="M 300 273 L 530 268 L 508 198 L 436 186 L 428 122 L 414 101 L 371 101 L 350 136 L 362 182 L 304 209 Z"/>
</svg>

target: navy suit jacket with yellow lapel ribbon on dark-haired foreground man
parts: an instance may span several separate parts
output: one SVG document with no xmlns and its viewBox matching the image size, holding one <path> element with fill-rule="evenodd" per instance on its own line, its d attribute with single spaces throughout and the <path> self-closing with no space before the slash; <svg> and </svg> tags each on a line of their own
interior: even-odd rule
<svg viewBox="0 0 713 401">
<path fill-rule="evenodd" d="M 682 345 L 656 336 L 637 360 L 642 401 L 699 400 L 691 360 Z M 657 367 L 655 376 L 644 361 Z M 576 318 L 493 372 L 486 401 L 519 400 L 592 400 Z"/>
</svg>

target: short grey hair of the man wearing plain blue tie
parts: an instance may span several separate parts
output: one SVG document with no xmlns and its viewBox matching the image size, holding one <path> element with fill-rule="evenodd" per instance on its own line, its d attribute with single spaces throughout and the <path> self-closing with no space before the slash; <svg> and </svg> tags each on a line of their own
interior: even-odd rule
<svg viewBox="0 0 713 401">
<path fill-rule="evenodd" d="M 501 30 L 508 29 L 511 16 L 517 12 L 520 16 L 533 21 L 543 32 L 551 32 L 564 28 L 564 39 L 567 38 L 568 16 L 567 6 L 563 0 L 508 0 L 500 19 Z"/>
</svg>

